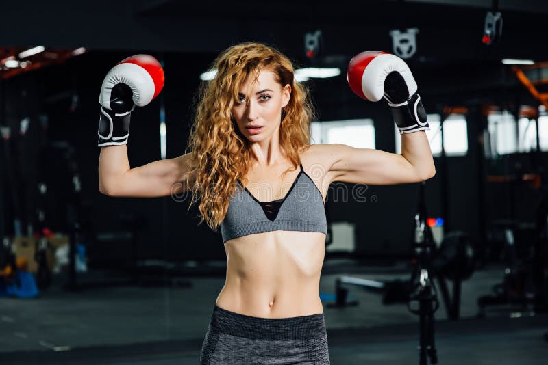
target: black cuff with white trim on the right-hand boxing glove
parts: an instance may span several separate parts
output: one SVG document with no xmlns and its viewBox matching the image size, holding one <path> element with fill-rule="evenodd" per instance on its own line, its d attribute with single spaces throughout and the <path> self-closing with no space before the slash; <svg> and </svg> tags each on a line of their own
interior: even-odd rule
<svg viewBox="0 0 548 365">
<path fill-rule="evenodd" d="M 400 134 L 430 129 L 419 94 L 413 94 L 406 102 L 401 104 L 388 103 L 388 105 Z"/>
</svg>

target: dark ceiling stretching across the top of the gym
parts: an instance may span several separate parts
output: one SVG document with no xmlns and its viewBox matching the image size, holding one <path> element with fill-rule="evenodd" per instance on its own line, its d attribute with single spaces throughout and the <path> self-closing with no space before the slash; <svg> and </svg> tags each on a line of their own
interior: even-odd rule
<svg viewBox="0 0 548 365">
<path fill-rule="evenodd" d="M 315 64 L 345 68 L 365 50 L 392 51 L 389 31 L 416 27 L 417 53 L 408 60 L 432 92 L 458 93 L 515 85 L 502 58 L 548 60 L 545 23 L 548 1 L 500 0 L 500 42 L 482 44 L 490 0 L 179 1 L 95 0 L 3 5 L 0 46 L 214 58 L 227 46 L 272 44 L 306 66 L 303 37 L 323 31 L 323 57 Z M 184 59 L 184 57 L 182 57 Z M 200 66 L 205 70 L 205 64 Z M 443 81 L 443 82 L 442 82 Z"/>
</svg>

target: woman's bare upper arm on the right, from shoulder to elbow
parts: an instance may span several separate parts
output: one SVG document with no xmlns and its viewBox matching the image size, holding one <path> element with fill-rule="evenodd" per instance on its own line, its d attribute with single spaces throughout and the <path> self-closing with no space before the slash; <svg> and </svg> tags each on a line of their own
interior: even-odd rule
<svg viewBox="0 0 548 365">
<path fill-rule="evenodd" d="M 393 185 L 420 181 L 413 165 L 401 154 L 345 144 L 331 145 L 335 157 L 330 170 L 334 181 L 345 183 Z"/>
</svg>

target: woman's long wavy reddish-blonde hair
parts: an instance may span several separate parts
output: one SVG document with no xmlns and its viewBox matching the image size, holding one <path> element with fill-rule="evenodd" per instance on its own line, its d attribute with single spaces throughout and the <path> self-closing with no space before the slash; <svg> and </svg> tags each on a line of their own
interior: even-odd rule
<svg viewBox="0 0 548 365">
<path fill-rule="evenodd" d="M 291 86 L 279 129 L 279 143 L 293 165 L 284 174 L 297 169 L 301 163 L 299 152 L 310 146 L 314 108 L 306 87 L 295 81 L 288 57 L 270 46 L 259 43 L 231 46 L 215 59 L 210 70 L 216 70 L 216 76 L 203 81 L 195 100 L 195 119 L 186 148 L 186 152 L 190 151 L 191 176 L 187 188 L 192 191 L 190 206 L 200 200 L 199 224 L 206 221 L 212 230 L 217 230 L 237 180 L 247 185 L 251 144 L 232 116 L 232 107 L 247 76 L 256 79 L 260 70 L 269 70 L 275 73 L 279 85 Z"/>
</svg>

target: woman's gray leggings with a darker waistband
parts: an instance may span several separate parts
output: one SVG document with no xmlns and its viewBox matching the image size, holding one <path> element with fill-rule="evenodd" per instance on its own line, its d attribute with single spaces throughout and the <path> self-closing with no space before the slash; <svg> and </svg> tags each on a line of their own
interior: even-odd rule
<svg viewBox="0 0 548 365">
<path fill-rule="evenodd" d="M 327 365 L 323 313 L 269 319 L 245 316 L 215 305 L 200 364 Z"/>
</svg>

